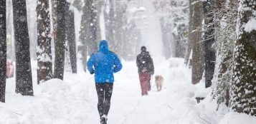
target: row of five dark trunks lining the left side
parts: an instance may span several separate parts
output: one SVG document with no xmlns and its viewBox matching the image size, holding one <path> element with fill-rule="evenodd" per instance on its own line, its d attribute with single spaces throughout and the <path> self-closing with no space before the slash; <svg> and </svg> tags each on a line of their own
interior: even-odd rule
<svg viewBox="0 0 256 124">
<path fill-rule="evenodd" d="M 16 59 L 16 93 L 33 95 L 32 69 L 29 53 L 29 31 L 26 1 L 12 1 L 14 21 L 14 41 Z M 6 86 L 6 1 L 0 3 L 1 28 L 1 102 L 5 101 Z M 54 74 L 52 71 L 51 27 L 49 1 L 37 0 L 37 83 L 51 78 L 63 79 L 65 63 L 65 41 L 70 52 L 72 73 L 76 73 L 76 47 L 74 12 L 67 1 L 52 1 L 52 24 L 55 46 Z M 64 7 L 63 7 L 64 6 Z M 69 34 L 69 35 L 67 35 Z"/>
</svg>

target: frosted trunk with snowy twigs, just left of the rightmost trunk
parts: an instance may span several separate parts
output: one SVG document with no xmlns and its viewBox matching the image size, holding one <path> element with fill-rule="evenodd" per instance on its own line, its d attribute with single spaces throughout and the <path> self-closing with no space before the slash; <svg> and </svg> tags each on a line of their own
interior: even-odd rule
<svg viewBox="0 0 256 124">
<path fill-rule="evenodd" d="M 234 51 L 235 27 L 237 19 L 237 1 L 228 3 L 217 0 L 215 4 L 214 32 L 216 38 L 215 48 L 217 51 L 216 65 L 213 83 L 213 98 L 217 104 L 225 103 L 229 106 L 229 89 L 232 78 L 232 61 Z M 230 8 L 233 8 L 230 10 Z M 219 21 L 222 20 L 222 21 Z"/>
</svg>

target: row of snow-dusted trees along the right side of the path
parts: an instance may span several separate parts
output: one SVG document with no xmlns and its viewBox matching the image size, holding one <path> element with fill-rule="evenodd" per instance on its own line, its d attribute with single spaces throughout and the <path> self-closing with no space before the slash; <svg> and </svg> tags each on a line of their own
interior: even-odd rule
<svg viewBox="0 0 256 124">
<path fill-rule="evenodd" d="M 192 55 L 193 84 L 204 76 L 218 105 L 249 115 L 256 115 L 255 6 L 251 0 L 189 0 L 185 57 L 189 63 Z"/>
</svg>

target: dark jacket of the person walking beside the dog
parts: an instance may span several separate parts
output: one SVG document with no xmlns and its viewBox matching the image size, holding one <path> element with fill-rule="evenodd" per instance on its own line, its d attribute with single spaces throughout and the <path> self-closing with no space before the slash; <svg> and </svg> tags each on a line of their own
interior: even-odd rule
<svg viewBox="0 0 256 124">
<path fill-rule="evenodd" d="M 141 51 L 137 56 L 138 73 L 154 73 L 153 60 L 148 51 Z"/>
</svg>

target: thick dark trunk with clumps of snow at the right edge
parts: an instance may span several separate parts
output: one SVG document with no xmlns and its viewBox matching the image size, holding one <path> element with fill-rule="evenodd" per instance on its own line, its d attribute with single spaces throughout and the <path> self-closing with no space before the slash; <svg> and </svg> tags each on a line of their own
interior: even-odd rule
<svg viewBox="0 0 256 124">
<path fill-rule="evenodd" d="M 256 116 L 256 2 L 240 0 L 231 85 L 231 108 Z"/>
</svg>

